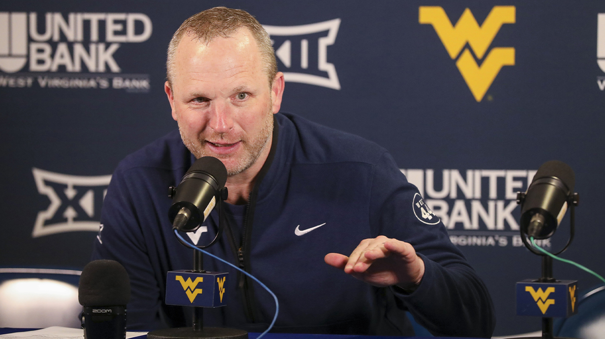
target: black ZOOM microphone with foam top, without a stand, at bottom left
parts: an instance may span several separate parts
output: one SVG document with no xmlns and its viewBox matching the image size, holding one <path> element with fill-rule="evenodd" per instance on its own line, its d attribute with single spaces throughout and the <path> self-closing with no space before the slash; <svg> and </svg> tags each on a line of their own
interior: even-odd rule
<svg viewBox="0 0 605 339">
<path fill-rule="evenodd" d="M 129 300 L 130 279 L 119 262 L 94 260 L 84 266 L 78 286 L 84 338 L 124 339 Z"/>
</svg>

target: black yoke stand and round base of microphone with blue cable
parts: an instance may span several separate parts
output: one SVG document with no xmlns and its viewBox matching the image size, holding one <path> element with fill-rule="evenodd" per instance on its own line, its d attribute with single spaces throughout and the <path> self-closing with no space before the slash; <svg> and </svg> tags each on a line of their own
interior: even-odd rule
<svg viewBox="0 0 605 339">
<path fill-rule="evenodd" d="M 227 187 L 223 187 L 222 190 L 217 192 L 215 198 L 218 201 L 218 231 L 217 236 L 210 244 L 206 246 L 196 246 L 204 249 L 214 245 L 218 239 L 220 239 L 223 233 L 224 227 L 224 216 L 223 216 L 223 202 L 227 199 Z M 178 238 L 177 238 L 178 239 Z M 178 239 L 181 244 L 186 247 L 190 247 L 189 244 L 183 243 Z M 201 251 L 193 250 L 193 270 L 192 273 L 206 273 L 204 271 L 204 256 Z M 151 331 L 147 334 L 148 339 L 191 339 L 191 338 L 203 338 L 203 339 L 248 339 L 248 332 L 241 329 L 233 328 L 204 328 L 204 309 L 201 307 L 193 307 L 193 326 L 189 328 L 170 328 L 170 329 L 159 329 Z"/>
</svg>

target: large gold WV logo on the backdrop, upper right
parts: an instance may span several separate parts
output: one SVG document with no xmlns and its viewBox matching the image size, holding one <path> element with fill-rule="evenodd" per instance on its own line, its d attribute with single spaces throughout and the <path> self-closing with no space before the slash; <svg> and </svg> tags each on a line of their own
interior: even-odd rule
<svg viewBox="0 0 605 339">
<path fill-rule="evenodd" d="M 477 102 L 483 99 L 502 66 L 515 65 L 513 47 L 494 47 L 487 53 L 502 25 L 515 23 L 514 6 L 495 6 L 481 26 L 469 8 L 452 25 L 442 7 L 421 6 L 419 22 L 433 25 Z"/>
</svg>

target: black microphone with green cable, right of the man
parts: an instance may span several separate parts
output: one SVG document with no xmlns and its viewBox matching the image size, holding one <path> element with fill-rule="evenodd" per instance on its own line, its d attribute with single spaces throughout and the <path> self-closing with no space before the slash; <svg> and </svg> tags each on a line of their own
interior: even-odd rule
<svg viewBox="0 0 605 339">
<path fill-rule="evenodd" d="M 567 164 L 557 160 L 542 164 L 523 201 L 522 232 L 535 239 L 551 237 L 567 211 L 574 185 L 574 171 Z"/>
</svg>

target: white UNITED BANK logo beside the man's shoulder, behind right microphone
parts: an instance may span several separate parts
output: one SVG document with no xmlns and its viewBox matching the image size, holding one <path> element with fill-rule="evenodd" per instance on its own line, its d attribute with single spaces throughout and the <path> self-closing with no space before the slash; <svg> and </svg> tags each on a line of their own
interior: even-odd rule
<svg viewBox="0 0 605 339">
<path fill-rule="evenodd" d="M 519 234 L 517 192 L 532 182 L 536 170 L 401 169 L 419 190 L 410 213 L 428 225 L 443 222 L 459 247 L 525 248 Z M 550 248 L 550 239 L 537 241 Z"/>
</svg>

